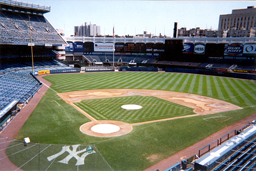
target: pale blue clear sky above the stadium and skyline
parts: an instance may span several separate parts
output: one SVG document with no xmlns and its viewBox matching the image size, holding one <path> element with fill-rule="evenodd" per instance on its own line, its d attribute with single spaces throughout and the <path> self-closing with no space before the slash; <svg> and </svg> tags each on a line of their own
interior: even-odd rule
<svg viewBox="0 0 256 171">
<path fill-rule="evenodd" d="M 65 36 L 74 34 L 74 26 L 85 22 L 100 25 L 101 35 L 143 34 L 173 37 L 174 22 L 178 29 L 200 27 L 218 29 L 219 15 L 233 9 L 255 6 L 256 1 L 169 1 L 169 0 L 22 0 L 51 6 L 44 14 L 55 29 L 65 29 Z"/>
</svg>

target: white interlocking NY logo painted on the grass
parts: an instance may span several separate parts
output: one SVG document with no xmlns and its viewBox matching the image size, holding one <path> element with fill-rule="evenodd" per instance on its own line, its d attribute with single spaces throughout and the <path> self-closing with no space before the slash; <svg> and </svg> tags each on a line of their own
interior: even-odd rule
<svg viewBox="0 0 256 171">
<path fill-rule="evenodd" d="M 92 150 L 92 148 L 85 148 L 85 149 L 83 149 L 83 150 L 80 150 L 80 151 L 76 151 L 76 149 L 79 147 L 80 145 L 73 145 L 72 146 L 72 151 L 70 150 L 70 146 L 64 146 L 64 147 L 62 147 L 62 150 L 59 152 L 59 153 L 57 153 L 57 154 L 54 154 L 54 155 L 52 155 L 52 156 L 49 156 L 49 157 L 47 157 L 47 159 L 48 159 L 48 161 L 51 161 L 51 160 L 53 160 L 53 159 L 55 159 L 55 158 L 57 158 L 58 156 L 60 156 L 61 154 L 63 154 L 63 153 L 65 153 L 66 151 L 69 153 L 69 155 L 67 156 L 67 157 L 65 157 L 63 160 L 60 160 L 60 161 L 58 161 L 58 162 L 60 162 L 60 163 L 64 163 L 64 164 L 68 164 L 68 162 L 69 162 L 69 160 L 72 158 L 72 157 L 74 157 L 75 159 L 76 159 L 76 166 L 77 165 L 84 165 L 84 159 L 85 159 L 85 157 L 87 156 L 87 155 L 89 155 L 89 154 L 93 154 L 93 153 L 95 153 L 95 151 L 94 150 Z M 87 150 L 88 149 L 88 150 Z M 82 156 L 80 157 L 80 156 L 78 156 L 77 154 L 80 154 L 80 153 L 83 153 L 83 152 L 85 152 L 84 154 L 82 154 Z"/>
</svg>

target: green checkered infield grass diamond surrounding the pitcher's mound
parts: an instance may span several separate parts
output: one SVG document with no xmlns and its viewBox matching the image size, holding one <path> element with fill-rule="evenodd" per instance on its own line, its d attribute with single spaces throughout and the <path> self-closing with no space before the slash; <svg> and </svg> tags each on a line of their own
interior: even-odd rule
<svg viewBox="0 0 256 171">
<path fill-rule="evenodd" d="M 75 104 L 86 113 L 91 112 L 91 116 L 97 120 L 117 120 L 128 123 L 172 118 L 193 111 L 192 108 L 148 96 L 127 96 L 97 100 L 83 100 Z M 121 108 L 124 104 L 138 104 L 141 105 L 142 108 L 138 110 L 126 110 Z M 174 111 L 174 113 L 169 112 L 170 110 Z M 166 111 L 168 112 L 166 113 Z"/>
</svg>

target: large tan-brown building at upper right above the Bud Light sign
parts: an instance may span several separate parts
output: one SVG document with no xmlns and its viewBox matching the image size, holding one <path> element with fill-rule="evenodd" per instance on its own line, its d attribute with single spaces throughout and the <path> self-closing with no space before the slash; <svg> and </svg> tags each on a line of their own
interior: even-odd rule
<svg viewBox="0 0 256 171">
<path fill-rule="evenodd" d="M 219 16 L 218 30 L 229 30 L 228 37 L 240 37 L 242 35 L 231 33 L 241 33 L 245 37 L 254 37 L 254 34 L 250 34 L 256 28 L 256 8 L 254 6 L 247 6 L 245 9 L 232 10 L 232 14 L 225 14 Z M 230 31 L 237 30 L 237 31 Z M 250 31 L 251 30 L 251 31 Z M 249 34 L 247 34 L 249 33 Z"/>
</svg>

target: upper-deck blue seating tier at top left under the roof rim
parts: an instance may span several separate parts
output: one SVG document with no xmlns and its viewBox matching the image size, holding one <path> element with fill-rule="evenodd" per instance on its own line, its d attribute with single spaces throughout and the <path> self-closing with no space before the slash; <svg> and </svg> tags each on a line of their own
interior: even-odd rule
<svg viewBox="0 0 256 171">
<path fill-rule="evenodd" d="M 0 43 L 66 44 L 44 16 L 4 10 L 0 12 L 0 35 Z"/>
</svg>

